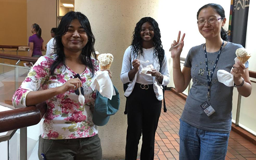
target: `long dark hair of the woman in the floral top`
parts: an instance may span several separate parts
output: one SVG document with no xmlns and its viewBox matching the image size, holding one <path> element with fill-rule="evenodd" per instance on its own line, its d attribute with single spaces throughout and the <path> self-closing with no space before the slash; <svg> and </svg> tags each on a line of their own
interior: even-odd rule
<svg viewBox="0 0 256 160">
<path fill-rule="evenodd" d="M 95 63 L 92 63 L 91 55 L 93 54 L 94 57 L 96 57 L 96 54 L 94 50 L 95 38 L 92 34 L 91 25 L 88 18 L 83 13 L 74 11 L 68 12 L 61 18 L 60 25 L 57 29 L 57 32 L 55 33 L 54 38 L 56 43 L 54 46 L 53 54 L 55 56 L 55 61 L 52 63 L 50 68 L 50 73 L 52 76 L 54 76 L 55 68 L 57 68 L 61 63 L 66 66 L 66 57 L 64 54 L 64 46 L 61 42 L 61 37 L 68 31 L 68 26 L 70 25 L 71 21 L 76 19 L 80 22 L 88 36 L 88 42 L 82 49 L 81 61 L 85 66 L 92 70 L 92 77 L 94 76 L 96 61 Z"/>
</svg>

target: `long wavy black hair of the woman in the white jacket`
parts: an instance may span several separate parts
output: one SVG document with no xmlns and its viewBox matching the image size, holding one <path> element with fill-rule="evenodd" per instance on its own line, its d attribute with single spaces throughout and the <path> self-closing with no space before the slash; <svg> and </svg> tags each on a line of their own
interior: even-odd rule
<svg viewBox="0 0 256 160">
<path fill-rule="evenodd" d="M 154 20 L 151 17 L 144 17 L 142 19 L 140 19 L 140 21 L 136 24 L 136 27 L 134 29 L 133 32 L 133 36 L 132 36 L 132 54 L 134 57 L 138 57 L 139 54 L 141 54 L 143 56 L 142 53 L 142 46 L 141 46 L 141 36 L 140 36 L 140 30 L 141 30 L 141 26 L 145 23 L 145 22 L 149 22 L 153 29 L 154 29 L 154 37 L 153 37 L 153 44 L 154 44 L 154 57 L 158 58 L 159 60 L 159 64 L 160 64 L 160 69 L 162 67 L 162 63 L 164 60 L 164 49 L 163 49 L 163 45 L 162 45 L 162 41 L 161 41 L 161 33 L 160 33 L 160 29 L 158 27 L 158 23 L 156 22 L 156 20 Z"/>
</svg>

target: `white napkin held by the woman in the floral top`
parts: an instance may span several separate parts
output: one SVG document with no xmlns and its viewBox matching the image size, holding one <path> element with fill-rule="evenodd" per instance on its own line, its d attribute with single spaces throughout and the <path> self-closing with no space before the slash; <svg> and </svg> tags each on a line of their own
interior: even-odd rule
<svg viewBox="0 0 256 160">
<path fill-rule="evenodd" d="M 102 96 L 107 97 L 109 100 L 112 99 L 113 95 L 116 95 L 113 83 L 108 75 L 108 71 L 106 70 L 97 71 L 95 73 L 91 88 L 93 91 L 96 89 Z"/>
</svg>

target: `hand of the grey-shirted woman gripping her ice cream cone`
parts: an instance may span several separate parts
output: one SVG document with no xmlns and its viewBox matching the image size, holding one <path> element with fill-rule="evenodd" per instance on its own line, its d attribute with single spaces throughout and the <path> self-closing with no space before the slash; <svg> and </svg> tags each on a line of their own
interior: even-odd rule
<svg viewBox="0 0 256 160">
<path fill-rule="evenodd" d="M 245 72 L 245 65 L 242 62 L 237 62 L 233 65 L 233 69 L 230 73 L 234 75 L 235 84 L 239 85 L 240 81 L 242 81 L 241 77 L 244 74 L 244 72 Z"/>
</svg>

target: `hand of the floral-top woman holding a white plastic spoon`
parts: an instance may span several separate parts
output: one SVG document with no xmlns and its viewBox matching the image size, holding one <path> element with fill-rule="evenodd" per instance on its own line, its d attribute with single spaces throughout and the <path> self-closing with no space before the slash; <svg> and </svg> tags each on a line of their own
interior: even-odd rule
<svg viewBox="0 0 256 160">
<path fill-rule="evenodd" d="M 82 86 L 82 82 L 79 78 L 72 78 L 69 79 L 65 84 L 62 86 L 58 87 L 59 89 L 59 94 L 68 92 L 70 90 L 77 90 L 78 87 Z"/>
</svg>

